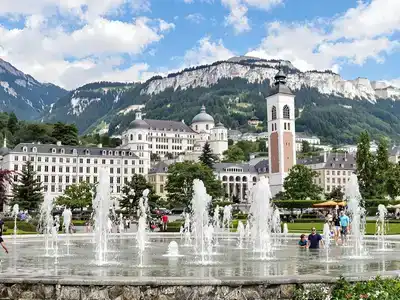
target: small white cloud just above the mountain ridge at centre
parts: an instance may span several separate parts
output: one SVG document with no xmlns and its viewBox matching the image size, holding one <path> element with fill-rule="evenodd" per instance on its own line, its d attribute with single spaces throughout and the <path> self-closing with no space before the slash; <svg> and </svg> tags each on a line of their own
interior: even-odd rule
<svg viewBox="0 0 400 300">
<path fill-rule="evenodd" d="M 225 48 L 222 41 L 213 42 L 210 37 L 204 37 L 198 41 L 198 45 L 186 51 L 182 67 L 210 64 L 218 60 L 226 60 L 234 56 L 234 53 Z"/>
</svg>

